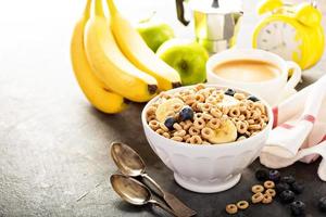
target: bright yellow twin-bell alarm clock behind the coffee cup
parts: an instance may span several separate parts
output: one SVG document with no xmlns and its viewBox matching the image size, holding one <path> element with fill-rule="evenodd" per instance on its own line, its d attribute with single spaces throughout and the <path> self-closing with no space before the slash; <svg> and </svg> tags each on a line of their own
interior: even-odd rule
<svg viewBox="0 0 326 217">
<path fill-rule="evenodd" d="M 259 7 L 264 18 L 253 33 L 253 48 L 271 51 L 309 68 L 324 52 L 322 14 L 311 3 L 284 4 L 266 0 Z"/>
</svg>

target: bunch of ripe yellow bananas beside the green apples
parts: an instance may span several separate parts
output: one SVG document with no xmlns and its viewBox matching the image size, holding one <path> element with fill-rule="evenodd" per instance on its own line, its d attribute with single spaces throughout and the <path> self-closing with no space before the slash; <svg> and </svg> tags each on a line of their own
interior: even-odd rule
<svg viewBox="0 0 326 217">
<path fill-rule="evenodd" d="M 71 44 L 73 69 L 89 102 L 104 113 L 118 113 L 125 99 L 146 102 L 158 90 L 180 86 L 178 73 L 160 60 L 136 29 L 108 0 L 111 18 L 102 0 L 87 0 Z M 93 13 L 91 13 L 93 8 Z"/>
</svg>

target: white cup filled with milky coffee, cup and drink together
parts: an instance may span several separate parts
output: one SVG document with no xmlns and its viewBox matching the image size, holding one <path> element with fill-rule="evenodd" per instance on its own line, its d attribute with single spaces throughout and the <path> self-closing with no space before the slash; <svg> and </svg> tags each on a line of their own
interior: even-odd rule
<svg viewBox="0 0 326 217">
<path fill-rule="evenodd" d="M 271 105 L 293 92 L 301 80 L 298 64 L 259 49 L 235 48 L 216 53 L 209 59 L 206 72 L 209 84 L 247 90 Z"/>
</svg>

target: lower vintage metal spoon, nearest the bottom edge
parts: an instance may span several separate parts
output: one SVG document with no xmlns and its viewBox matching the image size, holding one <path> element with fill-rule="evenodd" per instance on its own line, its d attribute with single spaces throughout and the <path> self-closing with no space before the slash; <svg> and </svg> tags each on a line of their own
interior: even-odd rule
<svg viewBox="0 0 326 217">
<path fill-rule="evenodd" d="M 156 205 L 173 216 L 177 216 L 174 210 L 152 199 L 150 190 L 131 177 L 123 175 L 112 175 L 110 181 L 114 191 L 126 202 L 134 205 Z"/>
</svg>

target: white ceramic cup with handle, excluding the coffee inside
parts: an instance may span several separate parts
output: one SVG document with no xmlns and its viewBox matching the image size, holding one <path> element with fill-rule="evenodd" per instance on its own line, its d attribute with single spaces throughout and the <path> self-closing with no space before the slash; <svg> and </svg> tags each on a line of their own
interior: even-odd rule
<svg viewBox="0 0 326 217">
<path fill-rule="evenodd" d="M 258 60 L 272 63 L 280 69 L 280 74 L 269 80 L 246 82 L 236 79 L 226 79 L 213 72 L 218 63 L 233 60 Z M 293 74 L 288 80 L 290 69 L 292 69 Z M 241 68 L 239 68 L 239 71 L 241 71 Z M 276 104 L 286 92 L 293 90 L 301 80 L 301 68 L 297 63 L 285 61 L 274 53 L 259 49 L 229 49 L 216 53 L 208 61 L 206 73 L 209 84 L 217 84 L 247 90 L 263 98 L 271 105 Z"/>
</svg>

